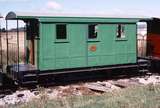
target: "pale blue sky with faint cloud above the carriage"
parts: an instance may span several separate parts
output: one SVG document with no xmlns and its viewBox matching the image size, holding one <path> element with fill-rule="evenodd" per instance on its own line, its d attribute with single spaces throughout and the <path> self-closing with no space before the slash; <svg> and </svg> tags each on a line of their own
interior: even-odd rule
<svg viewBox="0 0 160 108">
<path fill-rule="evenodd" d="M 160 0 L 0 0 L 0 13 L 79 12 L 160 16 Z"/>
</svg>

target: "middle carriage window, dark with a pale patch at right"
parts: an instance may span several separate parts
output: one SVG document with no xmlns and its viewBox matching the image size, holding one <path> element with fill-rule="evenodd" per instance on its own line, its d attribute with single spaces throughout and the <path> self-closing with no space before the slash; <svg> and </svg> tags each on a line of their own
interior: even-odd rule
<svg viewBox="0 0 160 108">
<path fill-rule="evenodd" d="M 88 26 L 88 39 L 96 39 L 98 34 L 98 25 Z"/>
</svg>

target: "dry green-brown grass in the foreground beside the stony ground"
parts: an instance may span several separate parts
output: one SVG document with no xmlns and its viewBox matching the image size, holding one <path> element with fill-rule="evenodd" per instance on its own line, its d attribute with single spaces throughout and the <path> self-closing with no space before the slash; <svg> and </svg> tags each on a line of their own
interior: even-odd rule
<svg viewBox="0 0 160 108">
<path fill-rule="evenodd" d="M 47 96 L 15 108 L 160 108 L 160 86 L 132 87 L 101 96 L 74 96 L 48 100 Z"/>
</svg>

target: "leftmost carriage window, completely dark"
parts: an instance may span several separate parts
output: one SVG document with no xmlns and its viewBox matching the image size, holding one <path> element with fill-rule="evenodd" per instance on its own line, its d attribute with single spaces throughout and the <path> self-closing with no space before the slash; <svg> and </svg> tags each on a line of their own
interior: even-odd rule
<svg viewBox="0 0 160 108">
<path fill-rule="evenodd" d="M 67 39 L 67 27 L 65 24 L 56 25 L 56 39 Z"/>
</svg>

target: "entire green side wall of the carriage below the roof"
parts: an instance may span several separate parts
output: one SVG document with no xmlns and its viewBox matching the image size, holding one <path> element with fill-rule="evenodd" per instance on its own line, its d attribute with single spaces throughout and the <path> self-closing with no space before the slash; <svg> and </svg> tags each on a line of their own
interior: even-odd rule
<svg viewBox="0 0 160 108">
<path fill-rule="evenodd" d="M 98 39 L 88 40 L 87 24 L 67 24 L 67 41 L 56 41 L 55 24 L 40 27 L 39 68 L 116 65 L 136 62 L 136 24 L 125 24 L 125 40 L 116 39 L 117 24 L 99 24 Z"/>
</svg>

